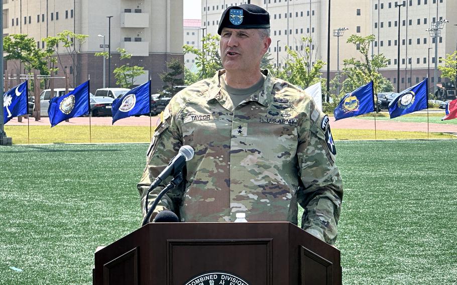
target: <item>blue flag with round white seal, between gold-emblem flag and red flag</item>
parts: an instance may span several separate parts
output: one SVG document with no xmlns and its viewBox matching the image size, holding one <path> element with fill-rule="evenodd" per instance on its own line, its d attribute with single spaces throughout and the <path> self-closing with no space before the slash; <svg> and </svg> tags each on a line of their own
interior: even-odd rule
<svg viewBox="0 0 457 285">
<path fill-rule="evenodd" d="M 390 118 L 399 117 L 428 108 L 427 80 L 400 92 L 389 104 Z"/>
</svg>

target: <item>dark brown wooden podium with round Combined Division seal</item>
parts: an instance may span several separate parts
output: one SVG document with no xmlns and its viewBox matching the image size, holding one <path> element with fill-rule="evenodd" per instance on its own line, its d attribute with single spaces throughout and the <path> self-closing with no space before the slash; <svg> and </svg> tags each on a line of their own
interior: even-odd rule
<svg viewBox="0 0 457 285">
<path fill-rule="evenodd" d="M 288 222 L 149 223 L 95 253 L 93 283 L 339 285 L 340 252 Z"/>
</svg>

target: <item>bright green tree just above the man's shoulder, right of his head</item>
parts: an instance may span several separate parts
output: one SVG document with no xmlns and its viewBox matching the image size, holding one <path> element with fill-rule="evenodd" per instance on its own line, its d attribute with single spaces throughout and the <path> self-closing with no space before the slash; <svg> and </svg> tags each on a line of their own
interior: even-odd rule
<svg viewBox="0 0 457 285">
<path fill-rule="evenodd" d="M 294 51 L 286 47 L 289 59 L 286 60 L 278 77 L 305 89 L 322 81 L 320 69 L 325 62 L 316 59 L 316 55 L 313 54 L 311 37 L 301 37 L 300 45 L 303 46 L 303 51 Z"/>
</svg>

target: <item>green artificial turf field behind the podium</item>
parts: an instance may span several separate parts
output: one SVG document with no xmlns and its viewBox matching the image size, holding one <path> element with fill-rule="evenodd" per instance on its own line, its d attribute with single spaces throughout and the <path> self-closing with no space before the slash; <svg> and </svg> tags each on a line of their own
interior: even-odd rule
<svg viewBox="0 0 457 285">
<path fill-rule="evenodd" d="M 0 284 L 91 284 L 95 248 L 141 223 L 147 147 L 0 148 Z M 457 140 L 336 147 L 343 283 L 457 283 Z"/>
</svg>

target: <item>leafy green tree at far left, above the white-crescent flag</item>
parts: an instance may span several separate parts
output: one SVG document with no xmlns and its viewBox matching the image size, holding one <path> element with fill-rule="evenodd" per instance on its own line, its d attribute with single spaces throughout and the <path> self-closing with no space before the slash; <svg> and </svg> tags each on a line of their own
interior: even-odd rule
<svg viewBox="0 0 457 285">
<path fill-rule="evenodd" d="M 54 53 L 52 48 L 48 46 L 43 50 L 37 48 L 35 40 L 26 34 L 13 34 L 4 37 L 3 47 L 6 54 L 5 59 L 19 60 L 28 72 L 36 69 L 42 75 L 50 75 L 51 72 L 57 70 L 54 67 L 57 60 L 52 57 Z M 19 69 L 19 67 L 17 68 Z"/>
</svg>

